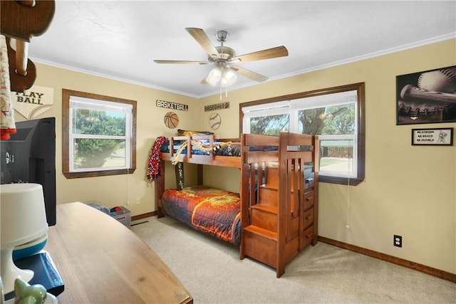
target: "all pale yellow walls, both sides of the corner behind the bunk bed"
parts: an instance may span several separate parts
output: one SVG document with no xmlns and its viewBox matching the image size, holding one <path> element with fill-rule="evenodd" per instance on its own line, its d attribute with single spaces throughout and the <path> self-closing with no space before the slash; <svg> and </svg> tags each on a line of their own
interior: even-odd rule
<svg viewBox="0 0 456 304">
<path fill-rule="evenodd" d="M 366 180 L 356 187 L 320 184 L 319 235 L 456 273 L 456 147 L 410 145 L 413 127 L 455 127 L 456 124 L 395 125 L 395 76 L 456 65 L 455 45 L 453 39 L 230 91 L 227 98 L 222 95 L 223 101 L 229 101 L 230 108 L 217 111 L 222 116 L 217 135 L 239 135 L 239 103 L 366 83 Z M 37 64 L 37 71 L 36 85 L 54 88 L 54 107 L 40 117 L 56 117 L 59 204 L 96 201 L 115 206 L 131 201 L 128 207 L 133 215 L 155 211 L 154 185 L 145 179 L 148 152 L 157 136 L 175 134 L 175 130 L 167 129 L 162 122 L 168 110 L 157 108 L 155 100 L 189 105 L 188 112 L 175 111 L 180 116 L 179 127 L 197 130 L 210 130 L 208 120 L 212 112 L 204 112 L 204 105 L 220 102 L 219 95 L 196 100 L 47 65 Z M 62 88 L 138 101 L 138 169 L 135 174 L 82 179 L 63 177 Z M 16 120 L 21 120 L 20 117 L 16 113 Z M 167 169 L 170 172 L 172 167 L 168 165 Z M 233 191 L 239 189 L 237 169 L 205 167 L 204 174 L 207 184 Z M 174 183 L 174 177 L 170 174 L 167 177 L 167 184 Z M 141 198 L 140 205 L 135 204 L 136 197 Z M 403 248 L 393 246 L 393 234 L 403 236 Z"/>
</svg>

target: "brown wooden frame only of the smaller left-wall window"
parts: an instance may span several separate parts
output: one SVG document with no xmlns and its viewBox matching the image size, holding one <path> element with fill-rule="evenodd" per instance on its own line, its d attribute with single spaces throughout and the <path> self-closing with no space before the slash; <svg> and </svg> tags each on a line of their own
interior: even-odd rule
<svg viewBox="0 0 456 304">
<path fill-rule="evenodd" d="M 132 106 L 132 119 L 131 119 L 131 151 L 130 168 L 124 169 L 103 169 L 103 170 L 90 170 L 82 172 L 70 171 L 70 140 L 71 140 L 71 97 L 89 98 L 93 100 L 108 101 L 111 103 L 123 103 Z M 120 174 L 133 174 L 136 169 L 136 100 L 127 100 L 123 98 L 114 98 L 105 95 L 98 95 L 93 93 L 85 93 L 76 90 L 62 89 L 62 173 L 67 179 L 81 178 L 81 177 L 101 177 L 109 175 Z M 125 145 L 128 143 L 125 142 Z"/>
</svg>

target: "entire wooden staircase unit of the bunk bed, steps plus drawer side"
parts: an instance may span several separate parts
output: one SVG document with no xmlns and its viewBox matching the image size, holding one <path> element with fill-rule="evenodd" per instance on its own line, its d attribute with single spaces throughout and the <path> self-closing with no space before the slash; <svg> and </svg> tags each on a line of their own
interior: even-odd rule
<svg viewBox="0 0 456 304">
<path fill-rule="evenodd" d="M 279 151 L 274 157 L 257 155 L 250 152 L 249 140 L 252 145 L 259 140 L 276 145 Z M 244 135 L 242 147 L 241 258 L 249 256 L 275 268 L 279 278 L 289 261 L 316 244 L 318 137 L 287 132 L 267 138 Z"/>
</svg>

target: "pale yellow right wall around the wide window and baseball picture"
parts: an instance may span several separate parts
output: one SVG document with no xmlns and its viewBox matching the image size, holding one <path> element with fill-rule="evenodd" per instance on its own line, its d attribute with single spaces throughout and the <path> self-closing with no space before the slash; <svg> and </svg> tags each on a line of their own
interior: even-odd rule
<svg viewBox="0 0 456 304">
<path fill-rule="evenodd" d="M 239 133 L 239 103 L 273 96 L 366 83 L 366 179 L 356 187 L 320 183 L 318 235 L 456 273 L 456 147 L 412 146 L 413 127 L 396 125 L 395 77 L 456 65 L 456 40 L 392 53 L 228 93 L 219 110 L 221 137 Z M 204 98 L 202 107 L 219 102 Z M 203 122 L 212 112 L 204 112 Z M 205 127 L 202 125 L 201 127 Z M 235 175 L 225 169 L 237 189 Z M 216 169 L 204 182 L 217 186 Z M 349 229 L 346 225 L 350 226 Z M 393 235 L 403 236 L 403 248 Z"/>
</svg>

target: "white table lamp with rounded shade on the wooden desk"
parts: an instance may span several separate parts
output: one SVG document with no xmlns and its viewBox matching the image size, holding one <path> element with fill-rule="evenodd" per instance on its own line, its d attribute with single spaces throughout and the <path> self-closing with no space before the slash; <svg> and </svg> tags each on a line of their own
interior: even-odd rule
<svg viewBox="0 0 456 304">
<path fill-rule="evenodd" d="M 14 290 L 16 278 L 28 282 L 33 271 L 14 265 L 15 246 L 41 238 L 48 231 L 41 184 L 0 185 L 1 278 L 4 293 Z"/>
</svg>

